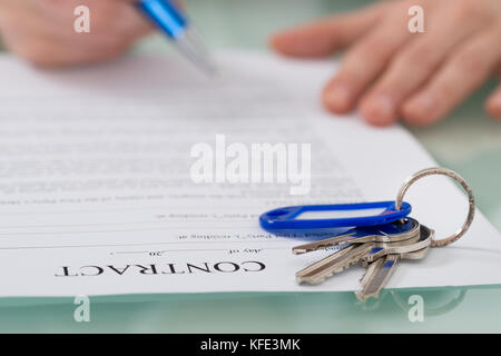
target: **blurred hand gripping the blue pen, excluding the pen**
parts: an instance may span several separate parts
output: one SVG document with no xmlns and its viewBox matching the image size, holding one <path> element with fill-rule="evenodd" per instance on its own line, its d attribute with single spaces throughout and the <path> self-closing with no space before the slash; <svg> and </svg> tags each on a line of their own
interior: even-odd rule
<svg viewBox="0 0 501 356">
<path fill-rule="evenodd" d="M 132 0 L 0 0 L 0 33 L 7 48 L 41 67 L 114 59 L 151 26 Z M 77 33 L 75 8 L 90 9 L 90 32 Z"/>
</svg>

